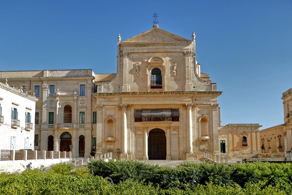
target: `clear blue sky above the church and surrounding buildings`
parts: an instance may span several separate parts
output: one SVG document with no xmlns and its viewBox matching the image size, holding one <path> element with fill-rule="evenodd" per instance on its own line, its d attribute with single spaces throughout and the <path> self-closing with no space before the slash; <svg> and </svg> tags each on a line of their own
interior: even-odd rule
<svg viewBox="0 0 292 195">
<path fill-rule="evenodd" d="M 217 82 L 221 125 L 284 122 L 292 88 L 292 1 L 0 1 L 0 71 L 116 73 L 117 36 L 152 28 L 191 39 Z"/>
</svg>

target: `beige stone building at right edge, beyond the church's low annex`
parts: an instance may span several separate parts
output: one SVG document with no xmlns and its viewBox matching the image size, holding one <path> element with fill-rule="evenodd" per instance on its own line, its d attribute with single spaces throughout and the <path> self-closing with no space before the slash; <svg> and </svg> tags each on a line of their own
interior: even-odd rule
<svg viewBox="0 0 292 195">
<path fill-rule="evenodd" d="M 263 153 L 292 150 L 292 88 L 282 93 L 284 123 L 260 131 Z"/>
</svg>

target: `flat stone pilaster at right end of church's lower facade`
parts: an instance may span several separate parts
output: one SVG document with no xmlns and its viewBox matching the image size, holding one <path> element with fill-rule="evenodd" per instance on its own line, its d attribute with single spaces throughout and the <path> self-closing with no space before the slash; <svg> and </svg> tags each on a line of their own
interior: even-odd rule
<svg viewBox="0 0 292 195">
<path fill-rule="evenodd" d="M 213 120 L 213 153 L 219 152 L 219 130 L 218 130 L 218 106 L 219 103 L 214 103 L 212 106 L 212 120 Z"/>
</svg>

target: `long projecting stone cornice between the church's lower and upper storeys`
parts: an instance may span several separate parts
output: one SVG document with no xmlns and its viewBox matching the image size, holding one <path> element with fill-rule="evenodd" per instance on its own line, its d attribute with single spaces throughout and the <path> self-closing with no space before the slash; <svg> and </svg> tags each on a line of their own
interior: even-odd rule
<svg viewBox="0 0 292 195">
<path fill-rule="evenodd" d="M 222 91 L 207 92 L 207 91 L 168 91 L 168 92 L 113 92 L 113 93 L 91 93 L 95 98 L 107 97 L 145 97 L 145 96 L 213 96 L 218 97 Z"/>
</svg>

